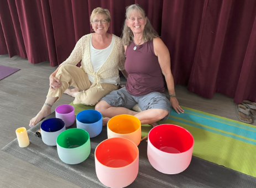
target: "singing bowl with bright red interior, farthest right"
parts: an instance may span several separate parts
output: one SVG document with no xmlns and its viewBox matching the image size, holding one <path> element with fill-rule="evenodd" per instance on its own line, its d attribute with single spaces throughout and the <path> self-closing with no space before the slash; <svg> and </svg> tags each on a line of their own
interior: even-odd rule
<svg viewBox="0 0 256 188">
<path fill-rule="evenodd" d="M 190 164 L 194 138 L 185 128 L 163 124 L 152 128 L 148 135 L 150 164 L 164 174 L 178 174 Z"/>
</svg>

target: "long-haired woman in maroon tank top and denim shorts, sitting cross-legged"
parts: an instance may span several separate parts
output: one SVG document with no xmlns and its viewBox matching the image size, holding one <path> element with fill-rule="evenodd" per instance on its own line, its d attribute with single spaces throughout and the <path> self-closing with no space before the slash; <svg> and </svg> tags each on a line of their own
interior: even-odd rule
<svg viewBox="0 0 256 188">
<path fill-rule="evenodd" d="M 168 48 L 138 4 L 126 9 L 122 40 L 126 50 L 127 84 L 102 98 L 96 105 L 96 110 L 105 116 L 103 125 L 113 116 L 129 114 L 138 117 L 142 124 L 156 126 L 156 121 L 168 119 L 171 106 L 178 114 L 183 113 L 175 97 Z M 162 74 L 170 100 L 165 96 Z M 129 110 L 137 103 L 141 112 Z"/>
</svg>

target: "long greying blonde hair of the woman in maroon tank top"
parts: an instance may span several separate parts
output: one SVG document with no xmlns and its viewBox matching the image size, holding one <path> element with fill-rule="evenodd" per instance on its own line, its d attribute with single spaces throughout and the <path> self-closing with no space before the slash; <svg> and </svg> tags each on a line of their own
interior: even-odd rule
<svg viewBox="0 0 256 188">
<path fill-rule="evenodd" d="M 128 46 L 130 42 L 133 41 L 133 32 L 126 24 L 126 20 L 129 19 L 130 13 L 132 13 L 134 10 L 137 10 L 142 14 L 143 19 L 145 19 L 146 14 L 145 10 L 140 7 L 138 4 L 132 4 L 129 7 L 126 7 L 126 19 L 124 20 L 123 24 L 123 33 L 122 33 L 122 41 L 123 45 Z M 143 31 L 143 37 L 142 40 L 144 42 L 148 42 L 150 40 L 153 40 L 155 37 L 159 37 L 158 33 L 154 30 L 153 26 L 150 24 L 149 19 L 147 18 L 147 24 L 145 25 L 144 31 Z"/>
</svg>

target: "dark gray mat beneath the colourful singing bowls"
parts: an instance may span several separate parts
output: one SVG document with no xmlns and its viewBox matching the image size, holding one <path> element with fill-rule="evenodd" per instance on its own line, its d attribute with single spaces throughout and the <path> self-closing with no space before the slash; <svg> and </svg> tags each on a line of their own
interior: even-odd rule
<svg viewBox="0 0 256 188">
<path fill-rule="evenodd" d="M 55 112 L 46 119 L 51 117 L 55 117 Z M 41 122 L 28 130 L 30 141 L 28 147 L 20 148 L 17 139 L 14 139 L 2 150 L 81 187 L 106 187 L 96 176 L 94 159 L 95 148 L 107 139 L 106 126 L 99 136 L 91 138 L 89 157 L 80 164 L 69 165 L 59 159 L 56 146 L 47 146 L 40 138 L 34 136 Z M 75 127 L 76 122 L 69 128 Z M 139 174 L 128 187 L 256 187 L 256 178 L 196 157 L 192 157 L 189 168 L 182 173 L 163 174 L 150 165 L 147 157 L 147 142 L 143 141 L 138 148 Z"/>
</svg>

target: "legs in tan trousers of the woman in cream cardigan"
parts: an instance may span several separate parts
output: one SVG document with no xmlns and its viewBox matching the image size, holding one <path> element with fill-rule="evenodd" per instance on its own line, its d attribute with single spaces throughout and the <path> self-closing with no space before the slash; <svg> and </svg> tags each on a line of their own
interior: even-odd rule
<svg viewBox="0 0 256 188">
<path fill-rule="evenodd" d="M 91 82 L 85 71 L 71 65 L 61 66 L 58 73 L 56 73 L 56 78 L 60 80 L 61 87 L 55 90 L 49 89 L 45 104 L 39 113 L 29 122 L 30 127 L 35 126 L 44 117 L 51 114 L 51 106 L 53 106 L 56 100 L 60 99 L 62 93 L 64 93 L 69 86 L 74 86 L 78 89 L 72 92 L 72 96 L 75 97 L 74 104 L 86 105 L 95 105 L 103 96 L 118 88 L 117 85 L 113 84 L 101 84 L 104 90 L 96 87 L 90 88 Z M 82 91 L 80 92 L 80 90 Z"/>
</svg>

